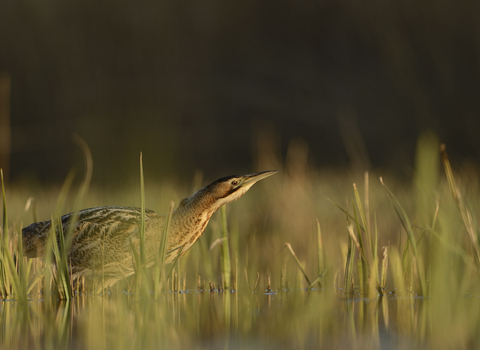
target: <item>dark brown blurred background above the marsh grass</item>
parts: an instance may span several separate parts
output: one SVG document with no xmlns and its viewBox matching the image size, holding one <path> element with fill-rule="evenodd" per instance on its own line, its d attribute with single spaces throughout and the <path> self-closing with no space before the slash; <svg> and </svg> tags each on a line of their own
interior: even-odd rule
<svg viewBox="0 0 480 350">
<path fill-rule="evenodd" d="M 61 181 L 77 133 L 100 183 L 140 151 L 215 178 L 291 140 L 314 167 L 402 176 L 425 130 L 478 164 L 479 22 L 467 0 L 0 0 L 0 166 Z"/>
</svg>

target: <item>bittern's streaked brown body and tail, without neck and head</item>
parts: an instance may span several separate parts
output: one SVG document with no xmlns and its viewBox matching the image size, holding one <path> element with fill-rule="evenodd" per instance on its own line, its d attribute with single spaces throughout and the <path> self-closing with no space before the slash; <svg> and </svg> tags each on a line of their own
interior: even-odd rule
<svg viewBox="0 0 480 350">
<path fill-rule="evenodd" d="M 77 216 L 76 220 L 72 219 Z M 71 230 L 72 244 L 68 259 L 72 273 L 89 270 L 105 270 L 115 265 L 131 265 L 130 242 L 138 248 L 140 208 L 96 207 L 62 216 L 64 234 Z M 147 255 L 154 253 L 160 241 L 164 217 L 152 210 L 145 211 L 145 236 Z M 73 224 L 73 229 L 71 225 Z M 51 221 L 33 223 L 22 230 L 25 255 L 43 257 Z M 58 228 L 57 239 L 58 239 Z M 118 266 L 116 267 L 118 269 Z"/>
</svg>

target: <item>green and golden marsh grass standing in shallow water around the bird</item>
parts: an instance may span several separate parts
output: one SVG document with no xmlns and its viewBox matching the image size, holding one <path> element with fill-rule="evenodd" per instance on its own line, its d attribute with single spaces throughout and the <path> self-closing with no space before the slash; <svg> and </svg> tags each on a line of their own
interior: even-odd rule
<svg viewBox="0 0 480 350">
<path fill-rule="evenodd" d="M 452 170 L 431 135 L 407 184 L 311 169 L 292 147 L 285 161 L 260 154 L 259 170 L 283 170 L 215 214 L 175 264 L 136 260 L 135 276 L 101 295 L 101 281 L 69 279 L 62 242 L 51 240 L 43 262 L 23 257 L 21 227 L 79 206 L 168 213 L 201 174 L 193 186 L 147 178 L 145 190 L 75 190 L 72 177 L 62 188 L 5 188 L 0 347 L 478 348 L 478 172 Z"/>
</svg>

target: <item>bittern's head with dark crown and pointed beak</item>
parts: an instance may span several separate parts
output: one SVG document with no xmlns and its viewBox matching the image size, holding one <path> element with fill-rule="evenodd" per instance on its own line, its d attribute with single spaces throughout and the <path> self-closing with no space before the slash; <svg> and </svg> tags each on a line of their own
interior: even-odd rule
<svg viewBox="0 0 480 350">
<path fill-rule="evenodd" d="M 212 182 L 204 189 L 209 194 L 210 198 L 215 201 L 215 206 L 220 208 L 222 205 L 240 198 L 256 182 L 275 173 L 277 173 L 276 170 L 269 170 L 247 175 L 226 176 Z"/>
</svg>

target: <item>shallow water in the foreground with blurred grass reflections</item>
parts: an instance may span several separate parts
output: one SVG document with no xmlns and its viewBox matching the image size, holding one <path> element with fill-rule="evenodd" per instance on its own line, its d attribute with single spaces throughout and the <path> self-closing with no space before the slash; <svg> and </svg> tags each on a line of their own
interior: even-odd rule
<svg viewBox="0 0 480 350">
<path fill-rule="evenodd" d="M 472 319 L 459 323 L 451 315 L 440 327 L 432 315 L 442 312 L 441 301 L 339 295 L 332 290 L 190 290 L 164 294 L 158 301 L 135 301 L 118 293 L 78 296 L 70 302 L 31 300 L 26 309 L 3 301 L 1 348 L 397 349 L 479 344 L 474 321 L 480 315 L 480 297 L 458 298 L 458 315 L 465 309 Z M 449 341 L 442 344 L 445 337 Z"/>
</svg>

